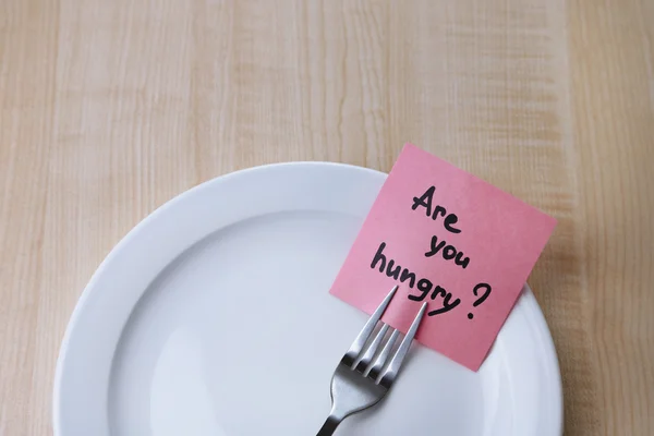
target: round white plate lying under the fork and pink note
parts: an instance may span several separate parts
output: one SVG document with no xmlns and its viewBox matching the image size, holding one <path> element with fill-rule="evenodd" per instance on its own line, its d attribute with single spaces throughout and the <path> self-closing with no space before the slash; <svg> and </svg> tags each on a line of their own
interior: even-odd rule
<svg viewBox="0 0 654 436">
<path fill-rule="evenodd" d="M 55 385 L 58 436 L 312 435 L 366 316 L 328 290 L 386 175 L 336 164 L 235 172 L 170 201 L 99 267 Z M 415 347 L 339 435 L 559 436 L 552 337 L 529 290 L 473 373 Z"/>
</svg>

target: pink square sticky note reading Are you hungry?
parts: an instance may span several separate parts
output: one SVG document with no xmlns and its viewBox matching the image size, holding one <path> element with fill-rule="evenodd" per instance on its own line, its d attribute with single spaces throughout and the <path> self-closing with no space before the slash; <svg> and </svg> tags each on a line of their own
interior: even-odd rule
<svg viewBox="0 0 654 436">
<path fill-rule="evenodd" d="M 477 371 L 555 225 L 407 144 L 330 292 L 372 314 L 399 284 L 384 320 L 407 331 L 428 302 L 416 339 Z"/>
</svg>

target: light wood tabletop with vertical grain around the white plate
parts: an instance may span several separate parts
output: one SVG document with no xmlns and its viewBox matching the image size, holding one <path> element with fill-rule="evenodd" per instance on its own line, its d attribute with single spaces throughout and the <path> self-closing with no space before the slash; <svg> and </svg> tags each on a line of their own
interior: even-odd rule
<svg viewBox="0 0 654 436">
<path fill-rule="evenodd" d="M 404 142 L 554 215 L 530 282 L 567 435 L 654 435 L 654 2 L 0 0 L 0 435 L 51 434 L 75 302 L 175 194 L 388 170 Z"/>
</svg>

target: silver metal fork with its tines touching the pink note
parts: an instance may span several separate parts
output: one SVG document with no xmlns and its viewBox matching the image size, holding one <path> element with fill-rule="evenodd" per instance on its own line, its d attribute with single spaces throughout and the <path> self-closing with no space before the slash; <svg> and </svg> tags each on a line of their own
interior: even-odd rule
<svg viewBox="0 0 654 436">
<path fill-rule="evenodd" d="M 336 367 L 336 372 L 331 377 L 331 411 L 316 436 L 332 435 L 346 417 L 377 404 L 396 380 L 415 331 L 425 314 L 427 303 L 423 303 L 386 368 L 385 365 L 389 360 L 393 344 L 400 336 L 399 330 L 392 330 L 384 348 L 378 352 L 389 329 L 387 324 L 380 323 L 382 328 L 365 352 L 363 350 L 397 290 L 398 287 L 396 286 L 384 299 Z M 376 359 L 372 363 L 375 356 Z"/>
</svg>

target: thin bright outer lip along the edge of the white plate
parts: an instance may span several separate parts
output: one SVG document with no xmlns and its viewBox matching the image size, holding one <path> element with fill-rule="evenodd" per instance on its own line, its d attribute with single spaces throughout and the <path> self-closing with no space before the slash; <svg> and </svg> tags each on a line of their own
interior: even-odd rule
<svg viewBox="0 0 654 436">
<path fill-rule="evenodd" d="M 68 320 L 68 324 L 66 324 L 66 327 L 64 330 L 64 335 L 63 335 L 63 338 L 62 338 L 60 347 L 59 347 L 59 353 L 57 356 L 56 368 L 55 368 L 55 378 L 53 378 L 52 397 L 51 397 L 51 400 L 52 400 L 52 408 L 51 408 L 52 427 L 53 427 L 55 436 L 63 435 L 63 431 L 61 428 L 62 423 L 61 423 L 61 412 L 60 412 L 60 407 L 61 407 L 60 398 L 61 398 L 61 393 L 62 393 L 63 370 L 64 370 L 66 356 L 68 356 L 69 350 L 70 350 L 70 340 L 71 340 L 71 337 L 74 334 L 74 331 L 78 328 L 81 314 L 84 312 L 86 305 L 88 304 L 88 300 L 89 300 L 90 295 L 94 293 L 94 288 L 96 287 L 96 283 L 99 280 L 99 277 L 102 276 L 102 271 L 105 269 L 107 269 L 108 265 L 111 264 L 116 257 L 120 256 L 120 254 L 123 252 L 125 245 L 128 245 L 130 243 L 130 241 L 132 239 L 134 239 L 135 235 L 138 232 L 141 232 L 141 230 L 143 228 L 147 227 L 149 225 L 149 222 L 157 219 L 167 209 L 174 207 L 175 204 L 179 203 L 180 201 L 182 201 L 184 197 L 190 196 L 193 193 L 201 191 L 208 185 L 211 185 L 215 183 L 221 183 L 231 178 L 245 177 L 247 174 L 256 173 L 259 171 L 265 171 L 265 170 L 268 170 L 271 168 L 283 169 L 284 167 L 286 168 L 288 168 L 288 167 L 331 167 L 331 168 L 340 168 L 340 169 L 352 170 L 352 171 L 367 172 L 371 175 L 383 177 L 384 179 L 386 179 L 388 175 L 388 173 L 376 170 L 376 169 L 361 167 L 361 166 L 351 165 L 351 164 L 334 162 L 334 161 L 299 160 L 299 161 L 266 164 L 266 165 L 253 166 L 253 167 L 249 167 L 249 168 L 230 171 L 230 172 L 217 175 L 215 178 L 211 178 L 209 180 L 206 180 L 199 184 L 191 186 L 190 189 L 186 189 L 186 190 L 175 194 L 174 196 L 172 196 L 171 198 L 169 198 L 168 201 L 166 201 L 165 203 L 162 203 L 161 205 L 156 207 L 149 214 L 147 214 L 134 227 L 132 227 L 124 235 L 122 235 L 120 238 L 120 240 L 111 247 L 109 253 L 98 264 L 98 266 L 94 270 L 93 275 L 88 279 L 87 283 L 84 286 L 84 289 L 83 289 L 82 293 L 80 294 L 77 301 L 75 302 L 75 306 L 69 317 L 69 320 Z M 531 326 L 541 336 L 541 344 L 546 348 L 546 350 L 543 350 L 544 355 L 546 355 L 548 358 L 546 367 L 550 368 L 548 375 L 550 377 L 554 377 L 554 379 L 550 380 L 550 383 L 555 384 L 555 387 L 554 387 L 555 401 L 558 403 L 558 407 L 556 407 L 557 404 L 552 404 L 555 407 L 554 412 L 556 413 L 556 421 L 557 421 L 556 423 L 554 423 L 553 427 L 558 428 L 558 434 L 562 434 L 562 428 L 564 428 L 562 422 L 564 422 L 564 414 L 565 414 L 564 389 L 562 389 L 562 377 L 561 377 L 561 373 L 560 373 L 558 353 L 557 353 L 557 350 L 556 350 L 556 347 L 554 343 L 552 330 L 549 329 L 547 319 L 545 318 L 545 315 L 537 302 L 537 299 L 535 298 L 533 291 L 531 290 L 531 287 L 528 283 L 525 283 L 525 289 L 526 289 L 526 292 L 524 292 L 521 298 L 522 299 L 526 298 L 525 303 L 529 304 L 531 314 L 537 318 L 537 319 L 529 318 L 529 324 L 531 324 Z"/>
</svg>

